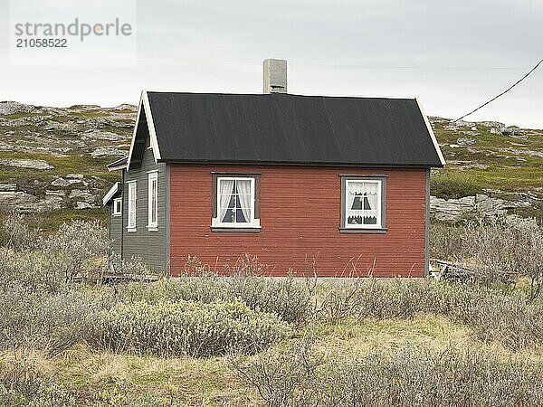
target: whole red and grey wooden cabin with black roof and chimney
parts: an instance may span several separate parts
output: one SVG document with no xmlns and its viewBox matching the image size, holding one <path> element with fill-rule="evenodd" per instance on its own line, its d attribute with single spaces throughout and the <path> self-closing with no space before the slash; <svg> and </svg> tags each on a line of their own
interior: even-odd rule
<svg viewBox="0 0 543 407">
<path fill-rule="evenodd" d="M 430 168 L 444 160 L 416 99 L 143 92 L 122 182 L 104 197 L 114 251 L 178 275 L 243 253 L 271 275 L 421 277 Z"/>
</svg>

